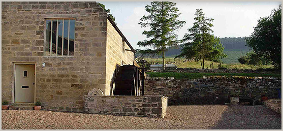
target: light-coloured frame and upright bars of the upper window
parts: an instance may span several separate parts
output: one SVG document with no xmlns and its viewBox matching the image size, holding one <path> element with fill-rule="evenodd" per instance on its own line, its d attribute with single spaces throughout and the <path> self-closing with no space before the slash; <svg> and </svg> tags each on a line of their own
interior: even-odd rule
<svg viewBox="0 0 283 131">
<path fill-rule="evenodd" d="M 46 55 L 46 20 L 57 20 L 57 31 L 56 31 L 56 55 Z M 62 20 L 64 22 L 64 20 L 69 20 L 68 22 L 68 27 L 69 27 L 69 30 L 68 30 L 68 54 L 67 55 L 64 55 L 63 54 L 63 47 L 64 45 L 62 45 L 62 54 L 61 55 L 58 55 L 58 51 L 57 51 L 57 48 L 58 48 L 58 21 L 59 20 Z M 44 19 L 44 43 L 43 43 L 43 57 L 74 57 L 74 55 L 69 55 L 69 46 L 70 46 L 70 20 L 75 20 L 75 24 L 74 24 L 74 55 L 75 55 L 75 39 L 76 39 L 76 18 L 69 18 L 69 17 L 60 17 L 60 18 L 45 18 Z M 51 30 L 52 30 L 52 24 L 53 22 L 51 22 Z M 62 34 L 64 34 L 64 25 L 62 25 Z M 52 35 L 50 35 L 51 38 L 50 38 L 50 54 L 52 53 Z"/>
</svg>

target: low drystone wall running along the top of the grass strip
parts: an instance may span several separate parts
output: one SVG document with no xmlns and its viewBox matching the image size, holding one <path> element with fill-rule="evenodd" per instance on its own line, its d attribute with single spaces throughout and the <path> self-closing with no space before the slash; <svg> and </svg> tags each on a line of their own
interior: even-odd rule
<svg viewBox="0 0 283 131">
<path fill-rule="evenodd" d="M 261 70 L 236 70 L 236 69 L 196 69 L 196 68 L 167 68 L 164 72 L 179 72 L 179 73 L 261 73 L 261 74 L 280 74 L 281 71 L 273 69 Z"/>
</svg>

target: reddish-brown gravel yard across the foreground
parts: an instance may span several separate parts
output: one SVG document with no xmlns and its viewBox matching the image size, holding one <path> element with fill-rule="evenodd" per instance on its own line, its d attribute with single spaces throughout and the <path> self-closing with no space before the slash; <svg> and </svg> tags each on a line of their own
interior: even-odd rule
<svg viewBox="0 0 283 131">
<path fill-rule="evenodd" d="M 3 110 L 2 129 L 281 129 L 265 106 L 169 106 L 165 118 Z"/>
</svg>

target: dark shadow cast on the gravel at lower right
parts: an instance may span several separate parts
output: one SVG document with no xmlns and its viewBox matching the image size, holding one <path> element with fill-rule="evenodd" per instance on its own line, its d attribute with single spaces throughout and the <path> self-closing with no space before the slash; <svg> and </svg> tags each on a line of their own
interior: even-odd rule
<svg viewBox="0 0 283 131">
<path fill-rule="evenodd" d="M 281 129 L 281 114 L 264 105 L 228 106 L 211 129 Z"/>
</svg>

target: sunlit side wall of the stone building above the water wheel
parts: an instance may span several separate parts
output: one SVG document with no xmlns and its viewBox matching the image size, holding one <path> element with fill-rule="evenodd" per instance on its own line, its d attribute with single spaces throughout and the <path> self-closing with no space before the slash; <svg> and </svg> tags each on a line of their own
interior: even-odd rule
<svg viewBox="0 0 283 131">
<path fill-rule="evenodd" d="M 110 89 L 115 87 L 113 84 L 114 71 L 116 68 L 116 64 L 133 64 L 134 61 L 134 52 L 131 51 L 123 51 L 124 49 L 131 50 L 131 48 L 122 40 L 122 37 L 118 34 L 116 29 L 107 20 L 107 43 L 106 43 L 106 95 L 113 95 L 113 92 Z"/>
</svg>

